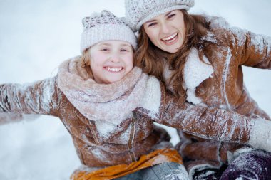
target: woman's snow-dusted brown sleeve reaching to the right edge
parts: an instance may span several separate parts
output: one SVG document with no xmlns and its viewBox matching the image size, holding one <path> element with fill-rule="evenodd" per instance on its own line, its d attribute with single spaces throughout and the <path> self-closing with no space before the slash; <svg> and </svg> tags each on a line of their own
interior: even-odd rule
<svg viewBox="0 0 271 180">
<path fill-rule="evenodd" d="M 230 28 L 240 65 L 271 69 L 271 38 L 240 28 Z M 233 53 L 234 54 L 234 53 Z"/>
</svg>

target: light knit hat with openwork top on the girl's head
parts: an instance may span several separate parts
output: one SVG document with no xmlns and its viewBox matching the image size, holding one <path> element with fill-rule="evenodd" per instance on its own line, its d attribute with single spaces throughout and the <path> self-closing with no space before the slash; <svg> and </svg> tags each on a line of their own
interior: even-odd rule
<svg viewBox="0 0 271 180">
<path fill-rule="evenodd" d="M 95 43 L 110 40 L 126 41 L 136 49 L 135 33 L 122 18 L 116 17 L 110 11 L 103 10 L 101 13 L 93 13 L 91 16 L 83 18 L 82 23 L 81 53 Z"/>
</svg>

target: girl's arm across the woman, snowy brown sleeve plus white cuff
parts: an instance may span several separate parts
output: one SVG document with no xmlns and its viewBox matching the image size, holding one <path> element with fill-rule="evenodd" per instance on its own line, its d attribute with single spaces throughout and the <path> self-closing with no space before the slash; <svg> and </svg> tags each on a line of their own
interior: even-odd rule
<svg viewBox="0 0 271 180">
<path fill-rule="evenodd" d="M 271 121 L 215 107 L 190 105 L 166 92 L 162 84 L 160 88 L 157 83 L 151 86 L 146 88 L 144 103 L 136 109 L 141 115 L 204 139 L 248 144 L 271 152 Z M 158 109 L 153 106 L 157 100 L 160 100 Z"/>
</svg>

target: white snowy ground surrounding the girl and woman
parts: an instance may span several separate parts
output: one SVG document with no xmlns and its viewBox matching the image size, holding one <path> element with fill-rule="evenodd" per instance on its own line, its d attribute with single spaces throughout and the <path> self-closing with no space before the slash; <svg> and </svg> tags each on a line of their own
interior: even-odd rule
<svg viewBox="0 0 271 180">
<path fill-rule="evenodd" d="M 0 0 L 0 84 L 26 83 L 56 74 L 79 54 L 81 18 L 108 9 L 124 15 L 124 0 Z M 271 36 L 271 1 L 195 0 L 190 12 L 223 16 L 232 26 Z M 245 68 L 252 97 L 271 115 L 271 71 Z M 175 129 L 168 129 L 178 142 Z M 80 165 L 57 118 L 41 116 L 0 127 L 0 179 L 68 179 Z"/>
</svg>

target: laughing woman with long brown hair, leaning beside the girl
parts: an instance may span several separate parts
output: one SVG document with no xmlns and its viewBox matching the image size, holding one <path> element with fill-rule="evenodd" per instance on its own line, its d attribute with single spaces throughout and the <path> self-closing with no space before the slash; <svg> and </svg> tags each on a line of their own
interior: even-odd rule
<svg viewBox="0 0 271 180">
<path fill-rule="evenodd" d="M 193 0 L 126 1 L 127 21 L 139 31 L 136 65 L 164 80 L 180 101 L 270 120 L 248 94 L 242 65 L 271 69 L 271 39 L 230 28 L 220 18 L 190 15 L 187 11 L 193 5 Z M 225 126 L 230 125 L 220 125 Z M 264 125 L 259 126 L 264 130 Z M 271 176 L 267 152 L 179 134 L 177 148 L 190 174 L 195 172 L 194 179 L 218 179 L 225 168 L 221 179 Z"/>
</svg>

